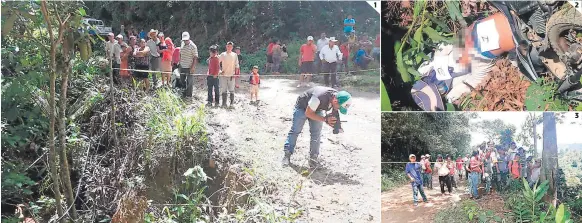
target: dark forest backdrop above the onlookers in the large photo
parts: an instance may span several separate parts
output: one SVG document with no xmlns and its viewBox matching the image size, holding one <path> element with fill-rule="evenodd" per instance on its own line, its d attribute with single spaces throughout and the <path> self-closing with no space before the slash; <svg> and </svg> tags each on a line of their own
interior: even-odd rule
<svg viewBox="0 0 582 223">
<path fill-rule="evenodd" d="M 380 31 L 377 12 L 365 2 L 353 1 L 90 1 L 87 14 L 101 19 L 114 33 L 134 27 L 157 29 L 172 38 L 189 31 L 197 45 L 233 41 L 245 51 L 261 50 L 269 38 L 303 40 L 342 34 L 343 20 L 356 19 L 358 35 L 374 37 Z"/>
</svg>

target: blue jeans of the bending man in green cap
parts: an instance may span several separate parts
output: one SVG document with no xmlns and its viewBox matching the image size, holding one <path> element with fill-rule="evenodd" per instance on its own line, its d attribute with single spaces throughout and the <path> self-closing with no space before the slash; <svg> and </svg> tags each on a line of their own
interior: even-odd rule
<svg viewBox="0 0 582 223">
<path fill-rule="evenodd" d="M 305 116 L 305 109 L 294 109 L 293 125 L 291 126 L 291 130 L 287 135 L 284 150 L 293 154 L 295 151 L 295 144 L 297 143 L 297 137 L 303 130 L 305 121 L 309 121 L 309 133 L 311 135 L 311 142 L 309 143 L 309 154 L 311 156 L 317 156 L 319 155 L 319 140 L 321 138 L 321 128 L 323 127 L 323 122 L 308 119 L 307 116 Z"/>
</svg>

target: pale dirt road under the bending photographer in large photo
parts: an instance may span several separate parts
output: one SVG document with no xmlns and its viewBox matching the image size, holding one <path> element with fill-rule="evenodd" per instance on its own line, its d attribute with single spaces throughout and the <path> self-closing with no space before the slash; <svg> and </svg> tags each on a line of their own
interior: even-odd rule
<svg viewBox="0 0 582 223">
<path fill-rule="evenodd" d="M 205 82 L 197 83 L 197 103 L 206 101 Z M 354 103 L 342 116 L 343 134 L 332 128 L 322 130 L 320 162 L 322 167 L 309 176 L 309 125 L 297 141 L 294 164 L 283 167 L 283 144 L 291 128 L 293 106 L 300 93 L 288 79 L 263 78 L 260 105 L 250 105 L 248 83 L 237 89 L 232 110 L 206 108 L 209 135 L 231 144 L 234 156 L 252 166 L 256 176 L 274 185 L 267 198 L 277 212 L 302 210 L 298 222 L 378 221 L 380 207 L 380 97 L 378 93 L 349 91 Z M 202 90 L 204 89 L 204 90 Z M 196 103 L 192 102 L 192 103 Z M 307 133 L 306 133 L 307 132 Z M 293 194 L 295 195 L 293 196 Z M 291 215 L 291 214 L 289 214 Z"/>
</svg>

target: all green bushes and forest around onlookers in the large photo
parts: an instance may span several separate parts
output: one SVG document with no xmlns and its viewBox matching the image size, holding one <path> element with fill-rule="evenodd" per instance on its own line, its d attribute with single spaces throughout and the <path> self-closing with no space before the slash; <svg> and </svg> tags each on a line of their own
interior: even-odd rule
<svg viewBox="0 0 582 223">
<path fill-rule="evenodd" d="M 243 72 L 265 64 L 276 37 L 289 51 L 284 70 L 297 73 L 305 37 L 339 35 L 346 13 L 359 33 L 379 31 L 376 12 L 353 2 L 2 2 L 2 222 L 291 222 L 304 213 L 276 210 L 267 179 L 212 153 L 203 105 L 135 80 L 114 85 L 102 39 L 79 32 L 87 12 L 115 31 L 187 30 L 199 49 L 235 41 Z M 236 176 L 222 172 L 230 166 L 240 166 Z M 242 185 L 240 175 L 253 180 Z"/>
</svg>

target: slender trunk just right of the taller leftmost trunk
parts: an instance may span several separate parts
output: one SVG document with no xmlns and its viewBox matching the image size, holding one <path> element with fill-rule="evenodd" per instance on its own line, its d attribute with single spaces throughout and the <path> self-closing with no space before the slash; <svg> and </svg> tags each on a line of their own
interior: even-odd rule
<svg viewBox="0 0 582 223">
<path fill-rule="evenodd" d="M 69 29 L 64 29 L 68 32 Z M 68 34 L 65 34 L 68 35 Z M 60 110 L 59 110 L 59 153 L 61 156 L 61 171 L 62 180 L 65 186 L 64 192 L 67 198 L 67 207 L 69 215 L 73 221 L 77 220 L 77 210 L 75 208 L 75 197 L 73 196 L 73 187 L 71 185 L 71 174 L 69 172 L 69 161 L 67 159 L 67 129 L 66 129 L 66 111 L 67 111 L 67 88 L 69 86 L 69 73 L 71 72 L 71 46 L 73 44 L 71 37 L 67 37 L 63 41 L 63 74 L 61 76 L 61 94 L 60 94 Z"/>
</svg>

